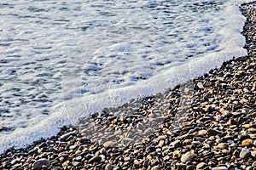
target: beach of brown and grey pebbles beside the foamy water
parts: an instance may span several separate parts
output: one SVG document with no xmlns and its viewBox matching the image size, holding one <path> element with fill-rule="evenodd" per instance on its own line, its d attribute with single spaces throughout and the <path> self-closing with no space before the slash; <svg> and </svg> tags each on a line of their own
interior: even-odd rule
<svg viewBox="0 0 256 170">
<path fill-rule="evenodd" d="M 241 13 L 247 56 L 10 148 L 0 169 L 256 169 L 256 3 Z"/>
</svg>

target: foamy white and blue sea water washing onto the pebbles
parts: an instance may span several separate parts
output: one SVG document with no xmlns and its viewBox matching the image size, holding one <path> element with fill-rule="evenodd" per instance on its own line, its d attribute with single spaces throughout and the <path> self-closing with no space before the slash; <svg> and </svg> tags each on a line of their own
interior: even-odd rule
<svg viewBox="0 0 256 170">
<path fill-rule="evenodd" d="M 1 2 L 0 153 L 246 55 L 247 2 Z"/>
</svg>

